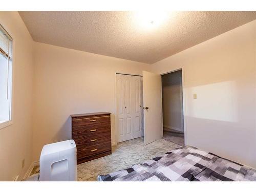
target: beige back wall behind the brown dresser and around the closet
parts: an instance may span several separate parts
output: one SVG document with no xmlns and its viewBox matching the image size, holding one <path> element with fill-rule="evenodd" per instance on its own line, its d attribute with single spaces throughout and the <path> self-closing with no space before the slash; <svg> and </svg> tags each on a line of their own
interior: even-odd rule
<svg viewBox="0 0 256 192">
<path fill-rule="evenodd" d="M 115 73 L 142 74 L 150 65 L 35 42 L 33 160 L 47 143 L 71 139 L 71 114 L 112 113 Z"/>
</svg>

